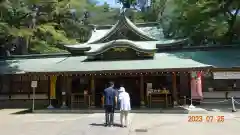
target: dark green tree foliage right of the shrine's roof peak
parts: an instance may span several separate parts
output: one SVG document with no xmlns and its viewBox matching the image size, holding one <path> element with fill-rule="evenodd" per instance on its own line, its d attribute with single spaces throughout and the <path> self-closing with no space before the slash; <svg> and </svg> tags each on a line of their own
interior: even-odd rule
<svg viewBox="0 0 240 135">
<path fill-rule="evenodd" d="M 166 38 L 190 38 L 193 45 L 239 40 L 239 0 L 153 0 L 141 13 L 159 21 Z"/>
</svg>

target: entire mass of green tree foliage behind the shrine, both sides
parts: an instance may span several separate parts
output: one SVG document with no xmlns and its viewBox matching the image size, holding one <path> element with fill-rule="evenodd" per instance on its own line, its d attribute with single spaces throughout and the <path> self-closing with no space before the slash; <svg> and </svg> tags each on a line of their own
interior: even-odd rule
<svg viewBox="0 0 240 135">
<path fill-rule="evenodd" d="M 137 4 L 119 2 L 125 8 Z M 114 24 L 118 14 L 89 0 L 1 0 L 0 46 L 12 54 L 64 52 L 63 45 L 88 40 L 89 24 Z M 152 0 L 134 14 L 135 22 L 158 21 L 166 38 L 189 38 L 192 45 L 240 39 L 239 0 Z"/>
</svg>

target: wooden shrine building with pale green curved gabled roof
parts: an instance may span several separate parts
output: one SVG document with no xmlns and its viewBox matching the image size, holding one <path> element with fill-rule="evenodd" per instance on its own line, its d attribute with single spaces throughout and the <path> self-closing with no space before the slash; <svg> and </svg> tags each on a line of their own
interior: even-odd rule
<svg viewBox="0 0 240 135">
<path fill-rule="evenodd" d="M 229 84 L 237 77 L 217 88 L 213 73 L 237 74 L 239 48 L 206 50 L 187 45 L 188 39 L 165 39 L 157 23 L 135 24 L 122 13 L 115 25 L 96 26 L 86 43 L 65 45 L 69 53 L 0 59 L 0 107 L 31 107 L 32 81 L 37 81 L 39 108 L 50 101 L 55 108 L 101 107 L 109 81 L 116 89 L 125 87 L 133 108 L 224 98 L 219 91 L 231 91 Z"/>
</svg>

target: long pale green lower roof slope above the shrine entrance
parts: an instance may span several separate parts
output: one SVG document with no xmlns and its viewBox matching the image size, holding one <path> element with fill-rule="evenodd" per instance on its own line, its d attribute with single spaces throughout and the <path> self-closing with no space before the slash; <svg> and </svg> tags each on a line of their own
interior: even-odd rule
<svg viewBox="0 0 240 135">
<path fill-rule="evenodd" d="M 129 70 L 162 70 L 181 68 L 204 68 L 211 64 L 179 57 L 170 53 L 156 53 L 153 59 L 122 61 L 91 61 L 86 56 L 56 58 L 16 59 L 0 62 L 1 74 L 24 72 L 93 72 L 93 71 L 129 71 Z"/>
</svg>

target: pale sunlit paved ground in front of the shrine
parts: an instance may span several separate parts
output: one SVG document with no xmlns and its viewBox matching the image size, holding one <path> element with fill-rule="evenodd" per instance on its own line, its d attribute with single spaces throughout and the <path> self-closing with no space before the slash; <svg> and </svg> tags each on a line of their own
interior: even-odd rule
<svg viewBox="0 0 240 135">
<path fill-rule="evenodd" d="M 224 122 L 188 122 L 188 117 L 225 116 Z M 130 114 L 128 128 L 103 127 L 104 114 L 10 114 L 0 110 L 1 135 L 239 135 L 240 112 Z M 119 114 L 115 115 L 119 123 Z"/>
</svg>

